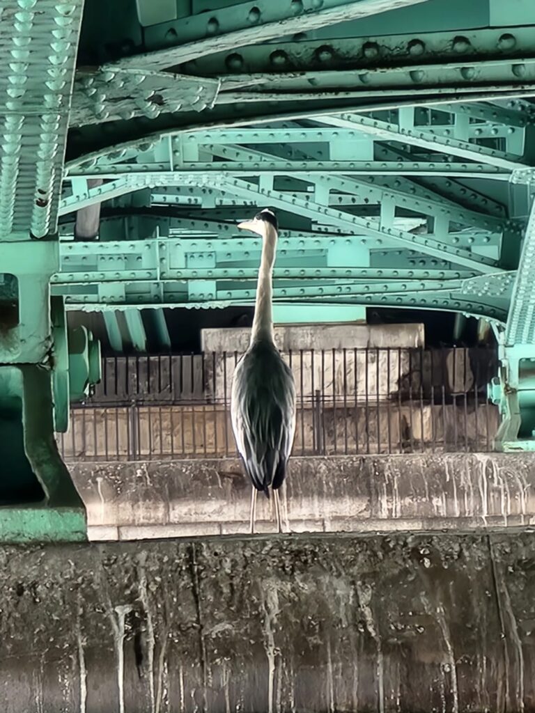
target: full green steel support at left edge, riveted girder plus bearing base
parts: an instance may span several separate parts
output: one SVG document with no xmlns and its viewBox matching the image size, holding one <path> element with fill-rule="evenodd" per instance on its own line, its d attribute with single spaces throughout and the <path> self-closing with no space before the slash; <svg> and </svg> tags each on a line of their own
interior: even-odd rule
<svg viewBox="0 0 535 713">
<path fill-rule="evenodd" d="M 0 2 L 0 538 L 81 540 L 61 460 L 68 338 L 56 234 L 81 0 Z"/>
</svg>

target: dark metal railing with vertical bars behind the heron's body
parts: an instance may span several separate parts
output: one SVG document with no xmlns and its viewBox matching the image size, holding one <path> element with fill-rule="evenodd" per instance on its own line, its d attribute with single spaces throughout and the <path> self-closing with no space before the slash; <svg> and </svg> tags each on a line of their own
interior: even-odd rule
<svg viewBox="0 0 535 713">
<path fill-rule="evenodd" d="M 499 425 L 489 348 L 283 354 L 297 386 L 295 455 L 490 451 Z M 235 456 L 238 353 L 113 357 L 58 434 L 67 461 Z"/>
</svg>

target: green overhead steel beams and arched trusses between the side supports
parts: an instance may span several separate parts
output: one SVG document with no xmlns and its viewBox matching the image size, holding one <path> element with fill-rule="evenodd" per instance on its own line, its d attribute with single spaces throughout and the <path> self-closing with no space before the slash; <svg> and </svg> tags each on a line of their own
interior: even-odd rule
<svg viewBox="0 0 535 713">
<path fill-rule="evenodd" d="M 21 0 L 17 22 L 39 2 Z M 141 307 L 252 304 L 260 240 L 234 226 L 270 205 L 282 225 L 274 299 L 290 320 L 379 305 L 501 324 L 515 294 L 526 323 L 530 294 L 515 279 L 534 163 L 535 11 L 487 0 L 470 11 L 444 0 L 108 5 L 85 8 L 71 97 L 53 278 L 69 309 L 108 312 L 113 332 L 118 310 L 135 331 Z M 10 216 L 40 207 L 13 175 L 4 234 Z M 47 201 L 55 185 L 39 186 Z M 96 230 L 81 236 L 75 220 Z"/>
</svg>

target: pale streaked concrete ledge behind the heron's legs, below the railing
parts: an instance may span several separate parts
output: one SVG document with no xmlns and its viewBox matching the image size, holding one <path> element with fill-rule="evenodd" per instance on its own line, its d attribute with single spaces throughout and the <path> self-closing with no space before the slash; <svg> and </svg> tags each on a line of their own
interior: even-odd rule
<svg viewBox="0 0 535 713">
<path fill-rule="evenodd" d="M 248 531 L 250 484 L 232 459 L 76 463 L 90 537 L 121 540 Z M 429 531 L 535 523 L 535 455 L 292 458 L 282 489 L 292 532 Z M 258 530 L 275 530 L 258 498 Z"/>
</svg>

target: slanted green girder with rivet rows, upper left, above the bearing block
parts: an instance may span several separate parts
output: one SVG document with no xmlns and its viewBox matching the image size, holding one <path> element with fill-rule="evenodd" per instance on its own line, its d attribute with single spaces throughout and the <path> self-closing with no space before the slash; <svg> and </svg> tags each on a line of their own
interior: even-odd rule
<svg viewBox="0 0 535 713">
<path fill-rule="evenodd" d="M 0 240 L 56 229 L 82 7 L 0 7 Z"/>
</svg>

